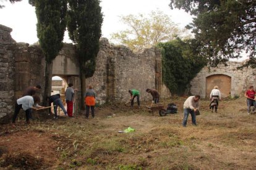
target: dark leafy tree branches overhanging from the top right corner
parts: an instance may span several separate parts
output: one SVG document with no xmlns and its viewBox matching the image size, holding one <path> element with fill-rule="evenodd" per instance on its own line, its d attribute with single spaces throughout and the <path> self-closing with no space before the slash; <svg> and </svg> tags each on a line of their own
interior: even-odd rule
<svg viewBox="0 0 256 170">
<path fill-rule="evenodd" d="M 254 0 L 171 0 L 169 5 L 195 15 L 192 28 L 200 55 L 216 66 L 247 52 L 247 65 L 256 67 L 256 1 Z"/>
</svg>

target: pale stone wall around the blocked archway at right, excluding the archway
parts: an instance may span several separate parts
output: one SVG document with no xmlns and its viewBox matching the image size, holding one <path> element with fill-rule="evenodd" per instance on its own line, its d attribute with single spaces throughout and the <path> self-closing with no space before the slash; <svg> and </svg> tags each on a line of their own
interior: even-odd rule
<svg viewBox="0 0 256 170">
<path fill-rule="evenodd" d="M 227 62 L 228 66 L 218 65 L 216 68 L 204 67 L 190 82 L 190 93 L 208 97 L 206 89 L 207 77 L 212 75 L 226 75 L 231 77 L 231 97 L 243 96 L 249 86 L 256 86 L 256 69 L 249 67 L 237 70 L 237 67 L 243 64 L 244 62 Z"/>
</svg>

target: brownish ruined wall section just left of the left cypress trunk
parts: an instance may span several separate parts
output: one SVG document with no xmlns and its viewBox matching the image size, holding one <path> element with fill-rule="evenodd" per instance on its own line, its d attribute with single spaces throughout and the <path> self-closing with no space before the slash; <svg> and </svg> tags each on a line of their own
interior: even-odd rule
<svg viewBox="0 0 256 170">
<path fill-rule="evenodd" d="M 43 100 L 41 94 L 45 89 L 45 56 L 39 46 L 29 46 L 27 43 L 17 43 L 15 47 L 15 99 L 23 95 L 24 89 L 29 86 L 40 84 L 41 91 L 38 95 Z"/>
</svg>

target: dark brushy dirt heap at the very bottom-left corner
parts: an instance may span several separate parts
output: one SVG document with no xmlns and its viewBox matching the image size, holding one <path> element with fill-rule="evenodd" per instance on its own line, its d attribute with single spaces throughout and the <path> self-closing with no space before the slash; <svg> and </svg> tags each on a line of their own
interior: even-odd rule
<svg viewBox="0 0 256 170">
<path fill-rule="evenodd" d="M 11 166 L 19 169 L 45 169 L 49 165 L 42 158 L 35 158 L 28 152 L 7 154 L 3 156 L 2 167 Z"/>
</svg>

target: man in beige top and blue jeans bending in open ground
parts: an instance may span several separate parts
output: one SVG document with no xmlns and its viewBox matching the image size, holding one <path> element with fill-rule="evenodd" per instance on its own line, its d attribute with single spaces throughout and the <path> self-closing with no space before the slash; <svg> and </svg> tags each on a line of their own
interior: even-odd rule
<svg viewBox="0 0 256 170">
<path fill-rule="evenodd" d="M 189 113 L 192 117 L 192 124 L 197 126 L 197 121 L 195 118 L 195 111 L 199 108 L 199 100 L 200 95 L 192 95 L 184 102 L 183 108 L 184 108 L 184 118 L 182 122 L 182 126 L 187 126 L 187 118 L 189 118 Z"/>
</svg>

